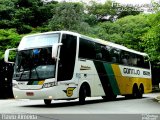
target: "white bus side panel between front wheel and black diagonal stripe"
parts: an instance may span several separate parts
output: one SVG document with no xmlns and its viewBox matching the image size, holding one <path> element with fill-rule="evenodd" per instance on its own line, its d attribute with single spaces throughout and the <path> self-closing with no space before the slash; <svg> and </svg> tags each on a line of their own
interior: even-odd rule
<svg viewBox="0 0 160 120">
<path fill-rule="evenodd" d="M 87 82 L 90 86 L 91 96 L 96 97 L 105 95 L 100 78 L 97 75 L 97 70 L 92 60 L 79 59 L 76 63 L 75 72 L 79 81 L 79 89 L 84 82 Z"/>
</svg>

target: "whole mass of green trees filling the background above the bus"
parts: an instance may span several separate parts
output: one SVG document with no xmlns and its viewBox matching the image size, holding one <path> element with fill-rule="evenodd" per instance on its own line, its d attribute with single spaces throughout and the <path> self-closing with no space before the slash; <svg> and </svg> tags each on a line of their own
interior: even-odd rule
<svg viewBox="0 0 160 120">
<path fill-rule="evenodd" d="M 42 0 L 0 0 L 0 58 L 7 48 L 17 47 L 23 34 L 70 30 L 146 52 L 158 66 L 160 12 L 159 4 L 154 6 L 154 14 L 143 15 L 126 6 L 121 7 L 127 11 L 118 11 L 110 0 L 88 6 Z"/>
</svg>

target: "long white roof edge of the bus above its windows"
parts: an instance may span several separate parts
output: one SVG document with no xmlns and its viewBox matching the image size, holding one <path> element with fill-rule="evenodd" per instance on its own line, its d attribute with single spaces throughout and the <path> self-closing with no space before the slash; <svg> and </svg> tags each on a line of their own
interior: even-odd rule
<svg viewBox="0 0 160 120">
<path fill-rule="evenodd" d="M 66 33 L 66 34 L 70 34 L 70 35 L 74 35 L 74 36 L 78 36 L 78 37 L 83 37 L 83 38 L 86 38 L 88 40 L 92 40 L 92 41 L 95 41 L 97 43 L 100 43 L 100 44 L 112 46 L 112 47 L 115 47 L 115 48 L 119 48 L 121 50 L 125 50 L 125 51 L 128 51 L 128 52 L 135 53 L 135 54 L 148 56 L 146 53 L 139 52 L 139 51 L 136 51 L 136 50 L 133 50 L 133 49 L 129 49 L 129 48 L 123 46 L 123 45 L 119 45 L 119 44 L 109 42 L 109 41 L 106 41 L 106 40 L 102 40 L 102 39 L 98 39 L 98 38 L 88 37 L 88 36 L 85 36 L 85 35 L 82 35 L 82 34 L 79 34 L 79 33 L 76 33 L 76 32 L 71 32 L 71 31 L 64 31 L 64 30 L 62 30 L 62 31 L 51 31 L 51 32 L 30 34 L 30 35 L 27 35 L 27 36 L 24 36 L 24 37 L 35 36 L 35 35 L 43 35 L 43 34 L 52 34 L 52 33 Z"/>
</svg>

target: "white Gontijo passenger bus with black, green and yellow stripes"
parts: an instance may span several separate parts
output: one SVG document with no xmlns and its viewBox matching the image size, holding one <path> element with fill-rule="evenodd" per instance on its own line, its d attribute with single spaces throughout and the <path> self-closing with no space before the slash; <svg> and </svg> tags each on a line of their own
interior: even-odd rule
<svg viewBox="0 0 160 120">
<path fill-rule="evenodd" d="M 16 51 L 13 93 L 16 99 L 54 100 L 117 95 L 141 98 L 152 91 L 148 55 L 122 45 L 70 31 L 27 35 Z"/>
</svg>

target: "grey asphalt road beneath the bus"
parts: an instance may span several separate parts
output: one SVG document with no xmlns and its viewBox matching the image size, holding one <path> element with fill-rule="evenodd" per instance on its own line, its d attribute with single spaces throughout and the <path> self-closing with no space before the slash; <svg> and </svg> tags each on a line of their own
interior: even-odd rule
<svg viewBox="0 0 160 120">
<path fill-rule="evenodd" d="M 158 95 L 160 93 L 145 94 L 142 99 L 125 99 L 123 96 L 118 96 L 115 101 L 106 102 L 101 97 L 87 98 L 85 105 L 79 105 L 78 99 L 72 101 L 53 100 L 50 106 L 46 106 L 43 100 L 0 100 L 0 119 L 12 117 L 24 119 L 26 116 L 23 115 L 32 115 L 27 116 L 26 119 L 160 120 L 160 103 L 154 99 Z M 9 116 L 5 116 L 8 114 Z"/>
</svg>

